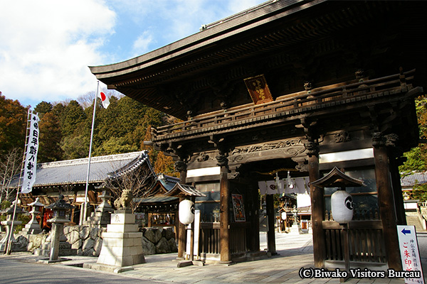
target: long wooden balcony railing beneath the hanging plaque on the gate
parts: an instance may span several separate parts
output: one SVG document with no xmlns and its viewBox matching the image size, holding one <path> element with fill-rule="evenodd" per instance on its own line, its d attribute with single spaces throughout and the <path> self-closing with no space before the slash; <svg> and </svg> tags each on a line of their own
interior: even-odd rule
<svg viewBox="0 0 427 284">
<path fill-rule="evenodd" d="M 265 120 L 279 119 L 281 116 L 312 111 L 321 107 L 372 99 L 394 92 L 406 92 L 412 88 L 408 83 L 413 80 L 413 72 L 415 70 L 374 80 L 335 84 L 313 89 L 311 92 L 288 94 L 274 102 L 215 111 L 212 114 L 196 116 L 194 119 L 178 124 L 159 126 L 157 129 L 152 129 L 152 134 L 154 141 L 159 141 L 162 138 L 194 135 L 244 124 L 259 124 Z"/>
</svg>

